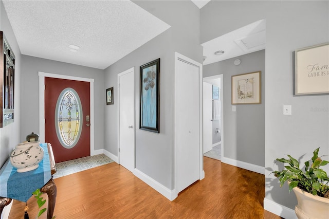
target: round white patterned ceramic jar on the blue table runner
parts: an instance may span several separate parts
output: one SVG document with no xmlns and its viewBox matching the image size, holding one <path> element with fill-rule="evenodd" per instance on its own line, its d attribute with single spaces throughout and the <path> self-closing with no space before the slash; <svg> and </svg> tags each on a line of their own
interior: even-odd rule
<svg viewBox="0 0 329 219">
<path fill-rule="evenodd" d="M 10 153 L 10 162 L 17 168 L 17 172 L 23 173 L 38 168 L 43 155 L 39 142 L 20 143 Z"/>
</svg>

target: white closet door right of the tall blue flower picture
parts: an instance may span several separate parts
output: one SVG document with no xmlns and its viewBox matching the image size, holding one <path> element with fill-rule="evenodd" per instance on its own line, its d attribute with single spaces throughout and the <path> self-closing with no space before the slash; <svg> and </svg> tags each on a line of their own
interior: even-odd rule
<svg viewBox="0 0 329 219">
<path fill-rule="evenodd" d="M 178 60 L 176 72 L 177 193 L 200 178 L 199 67 Z"/>
</svg>

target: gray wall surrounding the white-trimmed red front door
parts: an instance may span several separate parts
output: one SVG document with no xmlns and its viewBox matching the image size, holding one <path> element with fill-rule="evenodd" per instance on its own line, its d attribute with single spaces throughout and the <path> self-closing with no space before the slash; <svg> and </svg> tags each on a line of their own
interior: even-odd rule
<svg viewBox="0 0 329 219">
<path fill-rule="evenodd" d="M 103 149 L 103 114 L 105 104 L 104 71 L 31 56 L 22 56 L 22 125 L 21 139 L 39 131 L 39 75 L 38 72 L 94 79 L 95 150 Z"/>
</svg>

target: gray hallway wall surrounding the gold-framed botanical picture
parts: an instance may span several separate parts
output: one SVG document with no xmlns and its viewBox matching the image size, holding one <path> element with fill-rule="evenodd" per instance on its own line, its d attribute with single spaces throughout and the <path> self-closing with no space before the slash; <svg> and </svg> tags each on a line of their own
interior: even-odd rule
<svg viewBox="0 0 329 219">
<path fill-rule="evenodd" d="M 223 74 L 224 105 L 224 154 L 265 167 L 265 50 L 237 57 L 241 64 L 233 64 L 236 58 L 215 62 L 204 66 L 204 77 Z M 248 72 L 262 71 L 262 103 L 236 105 L 232 112 L 231 76 Z"/>
</svg>

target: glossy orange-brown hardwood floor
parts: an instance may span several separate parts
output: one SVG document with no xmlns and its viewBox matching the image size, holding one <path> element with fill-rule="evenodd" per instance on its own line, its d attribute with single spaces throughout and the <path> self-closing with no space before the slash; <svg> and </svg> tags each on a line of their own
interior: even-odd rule
<svg viewBox="0 0 329 219">
<path fill-rule="evenodd" d="M 265 176 L 204 157 L 206 177 L 170 202 L 117 163 L 54 179 L 62 218 L 281 218 L 263 209 Z M 44 196 L 46 198 L 46 196 Z M 37 211 L 28 200 L 30 218 Z M 23 218 L 14 200 L 9 218 Z M 46 218 L 46 213 L 41 218 Z"/>
</svg>

